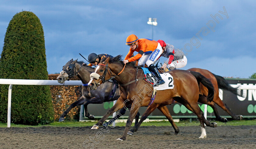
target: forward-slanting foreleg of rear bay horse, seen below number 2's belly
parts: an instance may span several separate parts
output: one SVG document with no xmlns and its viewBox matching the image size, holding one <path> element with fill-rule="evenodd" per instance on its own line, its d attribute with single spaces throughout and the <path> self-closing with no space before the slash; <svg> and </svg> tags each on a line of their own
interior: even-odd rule
<svg viewBox="0 0 256 149">
<path fill-rule="evenodd" d="M 151 105 L 151 106 L 148 106 L 146 112 L 140 117 L 140 121 L 139 123 L 135 124 L 135 126 L 128 131 L 128 134 L 129 135 L 133 135 L 134 132 L 136 132 L 138 130 L 138 128 L 140 127 L 141 123 L 146 120 L 146 118 L 158 107 L 159 105 L 158 104 L 155 104 L 155 105 Z"/>
</svg>

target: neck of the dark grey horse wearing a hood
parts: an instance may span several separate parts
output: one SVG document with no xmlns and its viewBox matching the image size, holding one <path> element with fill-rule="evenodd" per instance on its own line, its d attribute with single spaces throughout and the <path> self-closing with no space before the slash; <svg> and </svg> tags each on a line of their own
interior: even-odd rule
<svg viewBox="0 0 256 149">
<path fill-rule="evenodd" d="M 76 63 L 76 71 L 80 69 L 80 64 Z M 93 68 L 90 66 L 82 66 L 80 71 L 77 73 L 77 77 L 83 82 L 83 84 L 88 83 L 91 78 L 90 74 L 93 72 Z"/>
</svg>

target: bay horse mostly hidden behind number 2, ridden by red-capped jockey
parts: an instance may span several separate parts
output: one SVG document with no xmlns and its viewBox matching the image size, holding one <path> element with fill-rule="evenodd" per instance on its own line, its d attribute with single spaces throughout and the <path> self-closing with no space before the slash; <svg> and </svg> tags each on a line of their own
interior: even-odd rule
<svg viewBox="0 0 256 149">
<path fill-rule="evenodd" d="M 159 71 L 161 71 L 161 69 L 159 69 Z M 227 119 L 226 118 L 222 118 L 217 110 L 216 104 L 218 106 L 220 106 L 224 111 L 226 111 L 232 118 L 233 120 L 242 120 L 243 116 L 242 115 L 236 115 L 234 113 L 232 113 L 230 111 L 230 109 L 227 107 L 226 104 L 224 104 L 222 102 L 222 100 L 219 98 L 219 88 L 220 89 L 224 89 L 227 90 L 229 92 L 232 92 L 235 95 L 239 95 L 237 92 L 237 88 L 233 88 L 232 86 L 229 85 L 229 83 L 221 76 L 219 75 L 215 75 L 212 72 L 206 70 L 206 69 L 201 69 L 201 68 L 190 68 L 188 69 L 188 71 L 195 71 L 195 72 L 199 72 L 201 73 L 201 75 L 205 76 L 206 78 L 208 78 L 211 82 L 212 85 L 214 86 L 214 97 L 212 102 L 207 100 L 207 94 L 208 94 L 208 89 L 204 86 L 199 84 L 200 87 L 200 95 L 199 95 L 199 99 L 198 102 L 202 103 L 202 104 L 207 104 L 209 106 L 212 107 L 216 120 L 226 123 Z M 167 71 L 168 72 L 168 71 Z M 162 72 L 163 73 L 163 72 Z M 239 95 L 241 96 L 241 95 Z M 177 102 L 174 102 L 177 103 Z M 140 117 L 140 121 L 131 129 L 128 131 L 129 135 L 133 135 L 134 132 L 136 132 L 139 128 L 139 126 L 141 125 L 141 123 L 156 109 L 158 108 L 162 113 L 164 113 L 164 115 L 166 116 L 166 118 L 169 120 L 169 122 L 172 124 L 174 130 L 176 130 L 176 125 L 174 124 L 173 120 L 172 120 L 172 116 L 169 113 L 169 110 L 167 109 L 166 106 L 162 106 L 162 105 L 152 105 L 149 106 L 148 109 L 146 110 L 146 112 Z M 175 131 L 175 134 L 177 134 L 177 132 Z"/>
</svg>

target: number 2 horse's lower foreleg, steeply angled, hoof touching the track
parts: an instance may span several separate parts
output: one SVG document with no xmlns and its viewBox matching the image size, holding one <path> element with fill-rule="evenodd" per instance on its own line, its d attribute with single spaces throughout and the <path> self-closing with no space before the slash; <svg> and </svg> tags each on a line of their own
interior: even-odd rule
<svg viewBox="0 0 256 149">
<path fill-rule="evenodd" d="M 139 111 L 140 104 L 134 104 L 133 103 L 132 107 L 133 107 L 133 109 L 130 111 L 130 115 L 129 115 L 128 119 L 127 119 L 123 136 L 121 138 L 116 139 L 116 140 L 120 140 L 120 141 L 126 140 L 127 132 L 129 131 L 129 128 L 130 128 L 130 126 L 131 126 L 131 124 L 133 122 L 134 117 L 136 116 L 136 114 Z"/>
</svg>

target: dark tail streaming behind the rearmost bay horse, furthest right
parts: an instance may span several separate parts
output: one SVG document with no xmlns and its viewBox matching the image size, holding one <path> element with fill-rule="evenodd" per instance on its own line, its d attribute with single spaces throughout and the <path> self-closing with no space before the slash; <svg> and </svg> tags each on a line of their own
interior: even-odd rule
<svg viewBox="0 0 256 149">
<path fill-rule="evenodd" d="M 237 88 L 233 88 L 232 86 L 230 86 L 230 84 L 222 77 L 222 76 L 219 76 L 219 75 L 215 75 L 212 73 L 212 75 L 214 75 L 214 77 L 216 78 L 217 80 L 217 83 L 218 83 L 218 88 L 220 89 L 225 89 L 229 92 L 232 92 L 233 94 L 235 95 L 238 95 L 238 96 L 241 96 L 242 95 L 239 95 L 239 93 L 237 92 Z"/>
</svg>

